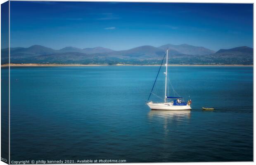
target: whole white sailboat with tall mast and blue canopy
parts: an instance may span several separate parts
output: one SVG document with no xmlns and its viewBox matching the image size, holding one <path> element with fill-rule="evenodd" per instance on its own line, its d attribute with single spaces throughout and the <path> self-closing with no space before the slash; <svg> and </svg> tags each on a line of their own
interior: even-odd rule
<svg viewBox="0 0 256 165">
<path fill-rule="evenodd" d="M 159 71 L 156 75 L 156 79 L 154 82 L 154 85 L 152 87 L 152 90 L 149 94 L 149 97 L 147 99 L 147 105 L 149 106 L 149 108 L 153 109 L 153 110 L 191 110 L 190 104 L 191 104 L 191 100 L 185 102 L 183 101 L 182 97 L 172 97 L 172 96 L 167 96 L 167 79 L 168 79 L 168 49 L 166 50 L 166 72 L 165 72 L 165 94 L 164 94 L 164 102 L 161 103 L 153 103 L 153 101 L 149 101 L 149 98 L 152 94 L 152 91 L 154 89 L 154 85 L 156 83 L 156 79 L 159 75 L 159 71 L 161 69 L 161 66 L 163 64 L 164 58 L 162 60 L 162 63 L 160 65 Z M 164 55 L 164 57 L 165 57 Z"/>
</svg>

